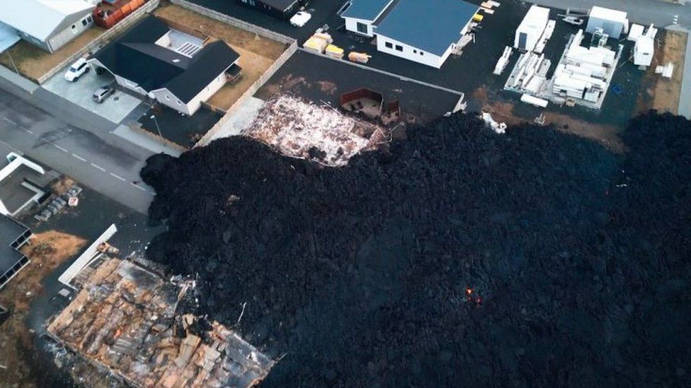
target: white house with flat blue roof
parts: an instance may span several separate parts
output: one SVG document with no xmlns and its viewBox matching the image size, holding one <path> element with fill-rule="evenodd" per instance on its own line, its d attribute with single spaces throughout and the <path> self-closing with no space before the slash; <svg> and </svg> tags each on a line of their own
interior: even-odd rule
<svg viewBox="0 0 691 388">
<path fill-rule="evenodd" d="M 351 0 L 341 17 L 347 30 L 376 36 L 378 51 L 439 69 L 478 10 L 462 0 Z"/>
</svg>

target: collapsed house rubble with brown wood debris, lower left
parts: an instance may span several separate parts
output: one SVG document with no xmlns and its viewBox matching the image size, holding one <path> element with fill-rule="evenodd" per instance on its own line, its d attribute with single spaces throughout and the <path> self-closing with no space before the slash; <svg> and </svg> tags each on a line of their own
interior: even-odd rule
<svg viewBox="0 0 691 388">
<path fill-rule="evenodd" d="M 108 258 L 50 323 L 49 335 L 135 387 L 251 387 L 273 360 L 234 331 L 213 323 L 193 333 L 196 317 L 176 316 L 190 288 L 130 261 Z"/>
</svg>

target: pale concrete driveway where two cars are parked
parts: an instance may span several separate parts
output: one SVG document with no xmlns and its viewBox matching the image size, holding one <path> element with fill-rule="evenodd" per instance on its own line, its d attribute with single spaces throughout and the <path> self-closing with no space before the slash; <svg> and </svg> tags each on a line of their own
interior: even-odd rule
<svg viewBox="0 0 691 388">
<path fill-rule="evenodd" d="M 107 72 L 99 76 L 96 71 L 92 70 L 79 77 L 78 81 L 69 82 L 64 79 L 64 71 L 59 71 L 43 84 L 43 88 L 98 114 L 110 122 L 119 124 L 142 101 L 120 90 L 115 90 L 115 93 L 101 104 L 94 102 L 91 99 L 93 92 L 109 83 L 115 83 L 115 80 Z"/>
</svg>

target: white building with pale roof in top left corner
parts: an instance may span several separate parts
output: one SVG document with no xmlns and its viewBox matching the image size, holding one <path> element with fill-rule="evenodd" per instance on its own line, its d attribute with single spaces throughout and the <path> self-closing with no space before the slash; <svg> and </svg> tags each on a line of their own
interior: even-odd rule
<svg viewBox="0 0 691 388">
<path fill-rule="evenodd" d="M 55 52 L 91 28 L 96 8 L 85 0 L 6 0 L 0 8 L 0 23 L 27 42 Z"/>
</svg>

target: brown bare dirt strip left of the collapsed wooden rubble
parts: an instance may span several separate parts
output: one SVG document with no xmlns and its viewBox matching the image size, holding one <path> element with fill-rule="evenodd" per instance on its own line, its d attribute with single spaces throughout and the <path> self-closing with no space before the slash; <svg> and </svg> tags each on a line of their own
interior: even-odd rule
<svg viewBox="0 0 691 388">
<path fill-rule="evenodd" d="M 30 245 L 22 251 L 31 262 L 0 292 L 0 304 L 13 311 L 12 316 L 0 327 L 0 381 L 4 387 L 33 387 L 36 380 L 31 365 L 33 336 L 25 319 L 29 305 L 42 290 L 42 279 L 64 260 L 72 257 L 84 246 L 86 240 L 74 235 L 48 231 L 35 235 Z"/>
</svg>

